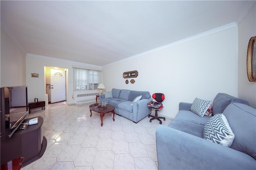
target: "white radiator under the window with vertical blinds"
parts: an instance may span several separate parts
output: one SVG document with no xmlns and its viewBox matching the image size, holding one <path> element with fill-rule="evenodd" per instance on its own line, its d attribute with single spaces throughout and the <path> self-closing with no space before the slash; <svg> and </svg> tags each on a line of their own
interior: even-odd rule
<svg viewBox="0 0 256 170">
<path fill-rule="evenodd" d="M 76 104 L 88 103 L 95 101 L 96 103 L 96 95 L 99 95 L 99 90 L 81 90 L 74 91 L 74 97 L 76 100 Z"/>
</svg>

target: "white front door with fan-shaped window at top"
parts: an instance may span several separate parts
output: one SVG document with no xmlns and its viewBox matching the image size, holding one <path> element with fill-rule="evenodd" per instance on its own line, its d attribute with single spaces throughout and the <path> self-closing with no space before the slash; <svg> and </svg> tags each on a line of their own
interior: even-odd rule
<svg viewBox="0 0 256 170">
<path fill-rule="evenodd" d="M 51 103 L 66 100 L 66 72 L 51 69 Z"/>
</svg>

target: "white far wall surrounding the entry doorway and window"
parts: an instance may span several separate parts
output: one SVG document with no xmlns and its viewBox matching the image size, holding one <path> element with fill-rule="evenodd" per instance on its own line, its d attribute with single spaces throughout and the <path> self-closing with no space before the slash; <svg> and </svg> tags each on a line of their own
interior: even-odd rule
<svg viewBox="0 0 256 170">
<path fill-rule="evenodd" d="M 34 98 L 38 100 L 45 100 L 46 94 L 46 82 L 44 78 L 44 67 L 59 67 L 65 68 L 66 71 L 66 88 L 67 97 L 66 101 L 68 105 L 75 104 L 75 100 L 72 99 L 74 95 L 74 82 L 73 82 L 73 68 L 72 65 L 91 68 L 102 69 L 100 66 L 90 65 L 86 63 L 78 63 L 74 61 L 67 61 L 61 59 L 54 59 L 51 57 L 45 57 L 34 54 L 26 55 L 26 85 L 28 86 L 28 102 L 33 102 Z M 31 77 L 31 73 L 38 73 L 39 77 Z"/>
</svg>

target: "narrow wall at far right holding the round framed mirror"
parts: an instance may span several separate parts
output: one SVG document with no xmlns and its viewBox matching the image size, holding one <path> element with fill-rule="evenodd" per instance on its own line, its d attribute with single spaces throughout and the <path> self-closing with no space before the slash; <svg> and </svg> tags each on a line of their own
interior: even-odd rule
<svg viewBox="0 0 256 170">
<path fill-rule="evenodd" d="M 256 36 L 256 3 L 238 26 L 238 97 L 249 101 L 250 106 L 256 108 L 256 82 L 248 80 L 246 71 L 247 47 L 253 36 Z"/>
</svg>

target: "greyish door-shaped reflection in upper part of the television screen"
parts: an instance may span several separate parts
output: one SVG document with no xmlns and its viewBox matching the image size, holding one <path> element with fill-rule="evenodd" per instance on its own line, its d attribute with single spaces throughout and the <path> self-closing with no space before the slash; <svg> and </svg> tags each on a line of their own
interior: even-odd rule
<svg viewBox="0 0 256 170">
<path fill-rule="evenodd" d="M 26 87 L 11 88 L 11 107 L 26 107 Z"/>
</svg>

